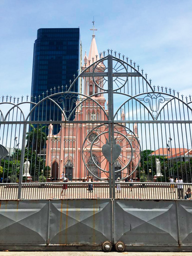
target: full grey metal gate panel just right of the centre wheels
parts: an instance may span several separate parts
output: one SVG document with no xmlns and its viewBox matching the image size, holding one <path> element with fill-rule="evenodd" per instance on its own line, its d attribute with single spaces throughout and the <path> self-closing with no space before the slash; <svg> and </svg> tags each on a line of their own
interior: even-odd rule
<svg viewBox="0 0 192 256">
<path fill-rule="evenodd" d="M 115 242 L 126 245 L 178 245 L 174 201 L 115 200 Z"/>
</svg>

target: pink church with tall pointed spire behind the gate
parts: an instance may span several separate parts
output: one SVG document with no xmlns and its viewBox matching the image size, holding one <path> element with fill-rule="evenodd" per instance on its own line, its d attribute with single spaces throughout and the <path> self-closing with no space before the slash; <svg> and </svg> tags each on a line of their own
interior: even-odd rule
<svg viewBox="0 0 192 256">
<path fill-rule="evenodd" d="M 93 33 L 88 57 L 85 52 L 83 70 L 89 67 L 90 63 L 98 58 L 97 56 L 99 53 Z M 105 66 L 100 62 L 95 71 L 104 70 Z M 85 72 L 88 71 L 93 71 L 92 66 Z M 89 97 L 80 96 L 78 99 L 74 122 L 70 124 L 63 122 L 58 134 L 53 134 L 52 125 L 49 126 L 46 165 L 51 167 L 52 180 L 61 180 L 63 172 L 73 181 L 83 180 L 87 175 L 94 176 L 94 180 L 107 180 L 109 177 L 109 162 L 102 153 L 102 146 L 109 140 L 108 126 L 102 124 L 102 121 L 108 120 L 107 102 L 101 91 L 103 82 L 99 77 L 94 79 L 95 82 L 92 77 L 83 77 L 83 93 Z M 137 125 L 135 124 L 133 132 L 130 132 L 125 123 L 123 124 L 125 120 L 123 110 L 121 116 L 121 124 L 114 127 L 115 143 L 121 146 L 121 154 L 115 161 L 115 179 L 126 178 L 132 173 L 140 157 Z M 95 122 L 75 123 L 75 121 Z M 121 169 L 122 171 L 118 172 Z M 134 172 L 132 176 L 135 178 L 135 175 Z"/>
</svg>

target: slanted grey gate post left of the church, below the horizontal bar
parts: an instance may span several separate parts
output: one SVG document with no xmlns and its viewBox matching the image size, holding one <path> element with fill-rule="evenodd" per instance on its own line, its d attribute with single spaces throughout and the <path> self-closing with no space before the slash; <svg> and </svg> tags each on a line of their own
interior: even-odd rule
<svg viewBox="0 0 192 256">
<path fill-rule="evenodd" d="M 19 186 L 18 186 L 18 196 L 17 198 L 21 198 L 21 186 L 23 179 L 23 164 L 25 157 L 25 144 L 26 144 L 26 123 L 23 125 L 23 138 L 22 138 L 22 147 L 21 147 L 21 160 L 20 160 L 20 171 L 19 171 Z"/>
</svg>

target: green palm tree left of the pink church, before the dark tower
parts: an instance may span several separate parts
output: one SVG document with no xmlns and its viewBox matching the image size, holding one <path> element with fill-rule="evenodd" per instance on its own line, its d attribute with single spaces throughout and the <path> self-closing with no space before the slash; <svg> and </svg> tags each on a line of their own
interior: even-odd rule
<svg viewBox="0 0 192 256">
<path fill-rule="evenodd" d="M 32 148 L 32 151 L 36 150 L 37 154 L 40 153 L 40 150 L 45 145 L 45 141 L 47 140 L 47 135 L 44 132 L 46 129 L 45 126 L 39 125 L 37 128 L 30 124 L 30 132 L 26 133 L 26 147 Z"/>
</svg>

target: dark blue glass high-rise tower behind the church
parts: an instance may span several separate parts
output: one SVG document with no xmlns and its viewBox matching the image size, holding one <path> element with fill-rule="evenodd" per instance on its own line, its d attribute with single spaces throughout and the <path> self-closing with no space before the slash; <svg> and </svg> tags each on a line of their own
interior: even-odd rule
<svg viewBox="0 0 192 256">
<path fill-rule="evenodd" d="M 77 77 L 79 64 L 79 28 L 38 29 L 33 53 L 32 101 L 38 102 L 47 95 L 66 91 L 70 80 L 74 80 L 74 75 Z M 71 91 L 78 92 L 78 83 Z M 61 108 L 68 105 L 67 102 L 61 103 L 59 100 L 58 104 Z M 71 110 L 71 106 L 68 109 Z M 32 113 L 31 120 L 61 120 L 61 113 L 57 106 L 46 101 Z"/>
</svg>

